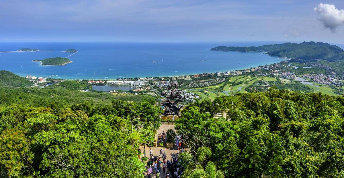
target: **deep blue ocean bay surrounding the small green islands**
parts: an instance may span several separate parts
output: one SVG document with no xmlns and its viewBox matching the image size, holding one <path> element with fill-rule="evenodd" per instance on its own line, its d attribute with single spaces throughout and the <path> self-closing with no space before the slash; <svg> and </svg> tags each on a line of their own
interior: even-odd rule
<svg viewBox="0 0 344 178">
<path fill-rule="evenodd" d="M 35 75 L 64 79 L 113 79 L 118 77 L 177 76 L 246 69 L 283 61 L 263 53 L 209 51 L 224 46 L 259 46 L 277 42 L 0 42 L 0 51 L 37 48 L 38 52 L 0 53 L 0 70 L 20 76 Z M 66 57 L 78 52 L 63 66 L 42 66 L 32 60 Z M 52 52 L 45 52 L 52 51 Z M 154 62 L 153 62 L 154 61 Z"/>
</svg>

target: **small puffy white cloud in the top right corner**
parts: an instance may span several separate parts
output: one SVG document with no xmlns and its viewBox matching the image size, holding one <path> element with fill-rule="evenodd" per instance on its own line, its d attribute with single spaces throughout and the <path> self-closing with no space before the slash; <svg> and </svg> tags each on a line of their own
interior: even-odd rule
<svg viewBox="0 0 344 178">
<path fill-rule="evenodd" d="M 333 33 L 339 26 L 344 24 L 344 10 L 338 10 L 334 4 L 320 3 L 318 7 L 314 8 L 314 11 L 318 14 L 318 19 L 324 27 L 330 29 Z"/>
</svg>

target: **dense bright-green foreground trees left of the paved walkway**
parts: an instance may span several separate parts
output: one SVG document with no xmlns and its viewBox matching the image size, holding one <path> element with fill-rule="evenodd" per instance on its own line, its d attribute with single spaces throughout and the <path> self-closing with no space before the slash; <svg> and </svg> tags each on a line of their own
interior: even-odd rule
<svg viewBox="0 0 344 178">
<path fill-rule="evenodd" d="M 160 109 L 149 102 L 0 108 L 0 169 L 11 177 L 143 177 Z"/>
</svg>

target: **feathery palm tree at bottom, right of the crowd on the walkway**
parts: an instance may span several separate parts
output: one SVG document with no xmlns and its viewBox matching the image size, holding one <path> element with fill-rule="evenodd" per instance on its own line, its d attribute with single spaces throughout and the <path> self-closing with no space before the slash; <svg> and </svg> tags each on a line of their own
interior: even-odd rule
<svg viewBox="0 0 344 178">
<path fill-rule="evenodd" d="M 208 161 L 203 168 L 203 163 L 212 155 L 212 151 L 207 146 L 201 146 L 192 155 L 189 152 L 183 152 L 179 155 L 182 165 L 186 166 L 182 173 L 182 178 L 224 178 L 223 171 L 216 170 L 216 165 Z"/>
</svg>

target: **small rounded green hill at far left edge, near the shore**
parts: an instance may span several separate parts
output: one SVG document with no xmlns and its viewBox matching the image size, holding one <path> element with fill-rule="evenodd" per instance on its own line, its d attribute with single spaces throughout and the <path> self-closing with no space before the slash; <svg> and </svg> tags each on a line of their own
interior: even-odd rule
<svg viewBox="0 0 344 178">
<path fill-rule="evenodd" d="M 0 71 L 0 86 L 20 87 L 31 84 L 32 82 L 26 80 L 24 77 L 20 77 L 9 71 Z"/>
</svg>

